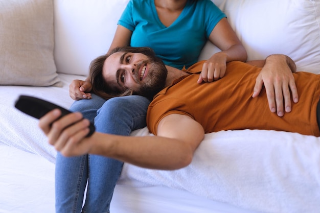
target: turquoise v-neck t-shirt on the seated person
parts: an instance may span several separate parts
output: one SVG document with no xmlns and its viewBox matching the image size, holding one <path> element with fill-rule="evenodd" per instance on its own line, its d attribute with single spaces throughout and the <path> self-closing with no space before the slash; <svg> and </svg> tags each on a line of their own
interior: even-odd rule
<svg viewBox="0 0 320 213">
<path fill-rule="evenodd" d="M 154 0 L 130 0 L 118 25 L 130 31 L 131 46 L 148 46 L 165 64 L 181 69 L 197 62 L 210 33 L 225 14 L 210 0 L 189 0 L 179 17 L 166 27 Z"/>
</svg>

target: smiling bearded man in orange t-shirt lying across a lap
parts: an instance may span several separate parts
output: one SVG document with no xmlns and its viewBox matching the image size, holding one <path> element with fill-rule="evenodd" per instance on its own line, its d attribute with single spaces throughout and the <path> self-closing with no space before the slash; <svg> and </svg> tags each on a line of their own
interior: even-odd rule
<svg viewBox="0 0 320 213">
<path fill-rule="evenodd" d="M 271 55 L 251 63 L 262 68 L 238 61 L 227 63 L 224 78 L 210 83 L 197 83 L 202 62 L 188 69 L 167 70 L 148 48 L 117 48 L 94 60 L 92 65 L 99 61 L 102 66 L 92 66 L 100 68 L 90 70 L 93 91 L 104 98 L 142 95 L 152 99 L 147 126 L 155 136 L 95 132 L 85 137 L 89 121 L 81 113 L 57 120 L 61 112 L 55 109 L 40 119 L 39 127 L 64 156 L 97 154 L 140 167 L 174 170 L 191 163 L 205 133 L 265 129 L 320 136 L 319 75 L 290 74 L 293 84 L 287 82 L 287 87 L 281 88 L 281 100 L 289 110 L 280 116 L 270 111 L 263 78 L 275 70 L 294 72 L 294 62 L 287 56 Z M 260 81 L 258 87 L 256 79 Z"/>
</svg>

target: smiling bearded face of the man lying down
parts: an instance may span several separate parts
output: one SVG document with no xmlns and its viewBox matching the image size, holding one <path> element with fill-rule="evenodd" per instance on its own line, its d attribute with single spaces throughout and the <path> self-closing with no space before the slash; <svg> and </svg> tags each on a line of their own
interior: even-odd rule
<svg viewBox="0 0 320 213">
<path fill-rule="evenodd" d="M 165 64 L 157 57 L 117 52 L 105 60 L 102 76 L 116 91 L 131 89 L 133 94 L 152 98 L 164 88 L 167 73 Z"/>
</svg>

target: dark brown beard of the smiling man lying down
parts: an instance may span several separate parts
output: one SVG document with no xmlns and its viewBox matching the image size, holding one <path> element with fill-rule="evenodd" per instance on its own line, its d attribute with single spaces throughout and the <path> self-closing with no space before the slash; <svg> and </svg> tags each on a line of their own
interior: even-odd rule
<svg viewBox="0 0 320 213">
<path fill-rule="evenodd" d="M 155 94 L 165 87 L 168 70 L 161 59 L 152 56 L 148 56 L 148 59 L 151 66 L 147 77 L 141 87 L 133 91 L 133 94 L 139 94 L 152 100 Z"/>
</svg>

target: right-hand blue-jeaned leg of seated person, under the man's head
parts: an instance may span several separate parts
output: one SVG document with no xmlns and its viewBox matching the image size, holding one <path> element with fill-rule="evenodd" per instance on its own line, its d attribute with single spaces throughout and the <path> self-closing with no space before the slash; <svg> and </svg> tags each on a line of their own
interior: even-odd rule
<svg viewBox="0 0 320 213">
<path fill-rule="evenodd" d="M 150 101 L 141 96 L 112 98 L 98 110 L 95 126 L 98 132 L 129 135 L 146 126 Z M 109 212 L 110 201 L 123 162 L 89 155 L 89 178 L 83 212 Z"/>
</svg>

